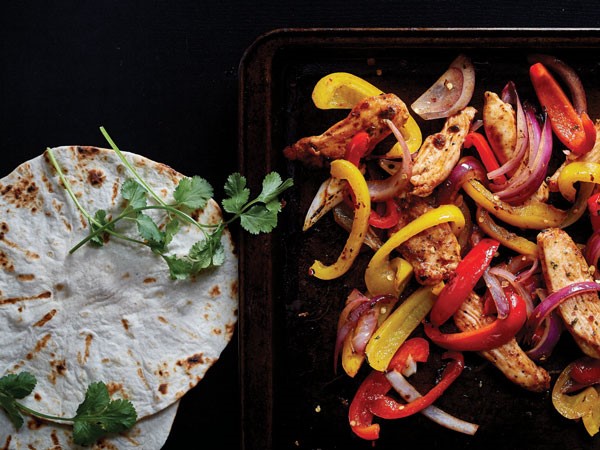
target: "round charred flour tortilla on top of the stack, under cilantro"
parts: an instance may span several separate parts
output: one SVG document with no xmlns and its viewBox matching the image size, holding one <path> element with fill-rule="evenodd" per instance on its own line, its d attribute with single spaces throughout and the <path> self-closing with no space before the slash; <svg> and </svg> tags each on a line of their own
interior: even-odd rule
<svg viewBox="0 0 600 450">
<path fill-rule="evenodd" d="M 53 152 L 86 210 L 116 214 L 131 175 L 112 150 Z M 180 173 L 126 157 L 172 200 Z M 220 218 L 214 201 L 198 213 L 202 223 Z M 114 397 L 131 400 L 140 419 L 152 416 L 194 387 L 232 337 L 238 277 L 231 236 L 223 234 L 222 266 L 173 281 L 162 258 L 120 239 L 69 254 L 88 233 L 46 154 L 0 180 L 0 374 L 35 375 L 36 389 L 23 403 L 39 411 L 72 417 L 88 384 L 103 381 Z M 187 253 L 201 239 L 196 227 L 183 225 L 170 253 Z M 0 444 L 6 433 L 2 427 Z"/>
</svg>

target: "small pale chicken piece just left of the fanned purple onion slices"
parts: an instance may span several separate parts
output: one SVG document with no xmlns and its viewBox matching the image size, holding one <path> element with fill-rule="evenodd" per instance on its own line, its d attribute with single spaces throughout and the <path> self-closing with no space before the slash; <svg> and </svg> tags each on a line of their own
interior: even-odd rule
<svg viewBox="0 0 600 450">
<path fill-rule="evenodd" d="M 517 145 L 517 119 L 510 103 L 505 103 L 494 92 L 484 94 L 483 128 L 500 164 L 508 161 Z"/>
</svg>

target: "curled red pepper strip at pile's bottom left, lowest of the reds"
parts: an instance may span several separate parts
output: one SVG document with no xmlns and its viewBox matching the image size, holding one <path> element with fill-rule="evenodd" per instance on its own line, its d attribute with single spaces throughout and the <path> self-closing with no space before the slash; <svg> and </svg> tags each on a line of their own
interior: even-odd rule
<svg viewBox="0 0 600 450">
<path fill-rule="evenodd" d="M 417 362 L 427 361 L 429 343 L 423 338 L 408 339 L 400 346 L 388 367 L 402 371 L 409 357 Z M 373 423 L 374 415 L 369 407 L 372 401 L 386 396 L 391 388 L 385 374 L 377 370 L 369 373 L 361 383 L 348 411 L 350 427 L 357 436 L 370 441 L 379 438 L 379 424 Z"/>
</svg>

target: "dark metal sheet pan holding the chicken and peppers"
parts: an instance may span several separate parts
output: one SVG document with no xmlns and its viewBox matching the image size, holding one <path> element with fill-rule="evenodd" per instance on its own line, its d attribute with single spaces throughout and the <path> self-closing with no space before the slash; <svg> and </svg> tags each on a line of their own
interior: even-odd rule
<svg viewBox="0 0 600 450">
<path fill-rule="evenodd" d="M 315 258 L 335 259 L 344 243 L 329 219 L 301 231 L 304 214 L 326 172 L 289 163 L 282 149 L 317 134 L 345 111 L 319 111 L 310 94 L 323 75 L 352 72 L 410 104 L 458 53 L 477 70 L 475 106 L 484 90 L 507 81 L 532 95 L 527 54 L 550 53 L 571 64 L 587 88 L 589 111 L 600 117 L 600 30 L 546 29 L 287 29 L 259 38 L 240 65 L 241 170 L 255 188 L 265 171 L 293 176 L 295 187 L 275 233 L 243 236 L 239 322 L 242 447 L 367 449 L 348 426 L 349 401 L 364 378 L 332 370 L 337 316 L 361 269 L 340 280 L 307 275 Z M 422 124 L 422 122 L 420 122 Z M 423 125 L 424 136 L 434 130 Z M 435 126 L 439 127 L 439 123 Z M 553 379 L 577 355 L 563 339 L 545 367 Z M 439 355 L 438 355 L 439 356 Z M 434 355 L 434 358 L 436 355 Z M 430 374 L 431 377 L 435 373 Z M 424 375 L 425 377 L 426 375 Z M 384 421 L 375 448 L 592 449 L 581 423 L 559 416 L 549 393 L 532 394 L 507 381 L 476 355 L 439 405 L 481 425 L 474 437 L 447 431 L 421 416 Z"/>
</svg>

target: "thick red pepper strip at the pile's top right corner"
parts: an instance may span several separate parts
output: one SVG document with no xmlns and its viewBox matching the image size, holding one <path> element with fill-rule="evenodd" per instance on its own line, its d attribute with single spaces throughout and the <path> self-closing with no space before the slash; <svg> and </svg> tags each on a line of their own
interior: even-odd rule
<svg viewBox="0 0 600 450">
<path fill-rule="evenodd" d="M 579 115 L 552 74 L 542 63 L 529 68 L 529 76 L 541 106 L 548 113 L 552 130 L 573 153 L 583 155 L 596 142 L 594 122 L 584 111 Z"/>
</svg>

